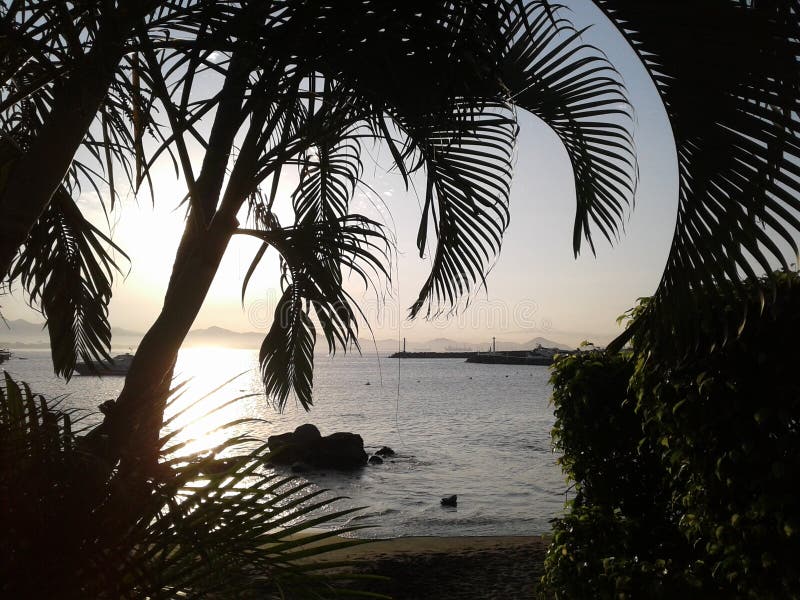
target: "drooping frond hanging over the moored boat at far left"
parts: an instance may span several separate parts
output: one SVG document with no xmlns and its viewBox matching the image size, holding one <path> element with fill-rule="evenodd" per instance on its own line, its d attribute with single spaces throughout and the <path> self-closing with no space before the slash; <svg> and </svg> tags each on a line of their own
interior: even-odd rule
<svg viewBox="0 0 800 600">
<path fill-rule="evenodd" d="M 53 366 L 71 377 L 75 362 L 110 361 L 111 251 L 125 253 L 89 223 L 62 187 L 16 257 L 11 281 L 47 319 Z"/>
</svg>

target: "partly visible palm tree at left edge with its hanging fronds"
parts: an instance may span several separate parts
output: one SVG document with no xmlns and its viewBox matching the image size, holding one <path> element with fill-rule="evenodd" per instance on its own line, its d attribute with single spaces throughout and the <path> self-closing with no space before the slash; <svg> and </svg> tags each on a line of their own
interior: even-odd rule
<svg viewBox="0 0 800 600">
<path fill-rule="evenodd" d="M 76 356 L 110 359 L 107 305 L 118 270 L 112 250 L 120 251 L 82 217 L 75 199 L 82 186 L 102 199 L 107 185 L 113 209 L 120 183 L 114 164 L 132 187 L 149 183 L 145 140 L 164 139 L 151 116 L 158 107 L 142 83 L 135 40 L 147 35 L 172 49 L 162 53 L 165 60 L 186 60 L 186 39 L 176 37 L 207 43 L 209 31 L 227 22 L 227 6 L 216 0 L 0 5 L 0 282 L 19 280 L 47 317 L 60 375 L 69 377 Z M 202 69 L 211 50 L 192 52 Z"/>
</svg>

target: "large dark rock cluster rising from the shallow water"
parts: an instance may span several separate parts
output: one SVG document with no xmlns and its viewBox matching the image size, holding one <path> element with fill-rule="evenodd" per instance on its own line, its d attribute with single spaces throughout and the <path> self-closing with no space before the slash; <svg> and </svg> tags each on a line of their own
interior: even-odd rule
<svg viewBox="0 0 800 600">
<path fill-rule="evenodd" d="M 306 424 L 293 432 L 270 436 L 267 444 L 272 462 L 278 465 L 350 470 L 367 464 L 364 440 L 347 431 L 323 437 L 314 425 Z"/>
</svg>

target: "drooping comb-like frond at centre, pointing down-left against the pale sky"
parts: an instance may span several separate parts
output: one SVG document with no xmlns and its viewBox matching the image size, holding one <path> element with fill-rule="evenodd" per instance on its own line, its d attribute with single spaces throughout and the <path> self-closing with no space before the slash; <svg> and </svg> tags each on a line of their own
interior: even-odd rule
<svg viewBox="0 0 800 600">
<path fill-rule="evenodd" d="M 404 128 L 402 121 L 399 125 Z M 429 228 L 436 238 L 431 273 L 411 306 L 412 318 L 426 304 L 428 316 L 455 309 L 473 284 L 484 283 L 508 226 L 517 131 L 505 103 L 466 100 L 455 101 L 447 118 L 436 115 L 406 130 L 406 157 L 416 155 L 427 171 L 420 256 Z"/>
</svg>

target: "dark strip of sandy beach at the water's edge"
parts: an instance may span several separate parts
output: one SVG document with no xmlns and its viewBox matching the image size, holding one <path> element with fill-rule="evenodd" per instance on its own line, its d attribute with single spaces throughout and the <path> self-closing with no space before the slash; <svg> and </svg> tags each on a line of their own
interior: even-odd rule
<svg viewBox="0 0 800 600">
<path fill-rule="evenodd" d="M 354 561 L 359 573 L 390 578 L 358 587 L 397 600 L 516 600 L 534 597 L 546 550 L 538 536 L 403 537 L 318 560 Z"/>
</svg>

